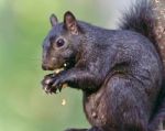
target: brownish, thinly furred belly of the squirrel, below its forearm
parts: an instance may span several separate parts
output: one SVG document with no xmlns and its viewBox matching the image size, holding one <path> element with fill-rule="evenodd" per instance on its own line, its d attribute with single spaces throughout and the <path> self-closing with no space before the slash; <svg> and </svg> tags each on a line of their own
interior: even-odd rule
<svg viewBox="0 0 165 131">
<path fill-rule="evenodd" d="M 84 95 L 84 110 L 90 124 L 105 125 L 108 122 L 108 101 L 102 90 L 92 95 Z"/>
</svg>

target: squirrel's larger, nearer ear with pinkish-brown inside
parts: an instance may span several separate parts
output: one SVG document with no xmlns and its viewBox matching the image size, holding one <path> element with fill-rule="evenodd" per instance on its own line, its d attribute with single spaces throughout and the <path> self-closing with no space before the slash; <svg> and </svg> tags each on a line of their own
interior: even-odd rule
<svg viewBox="0 0 165 131">
<path fill-rule="evenodd" d="M 75 15 L 70 11 L 64 14 L 64 25 L 72 34 L 78 35 L 78 24 Z"/>
</svg>

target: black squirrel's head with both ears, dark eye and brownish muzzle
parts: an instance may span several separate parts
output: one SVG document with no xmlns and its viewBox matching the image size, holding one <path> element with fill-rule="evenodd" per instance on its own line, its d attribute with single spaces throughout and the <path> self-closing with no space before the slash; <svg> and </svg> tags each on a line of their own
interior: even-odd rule
<svg viewBox="0 0 165 131">
<path fill-rule="evenodd" d="M 58 23 L 55 14 L 52 14 L 50 20 L 52 30 L 43 43 L 42 68 L 54 70 L 67 64 L 73 65 L 72 62 L 78 52 L 82 31 L 69 11 L 64 14 L 64 22 Z"/>
</svg>

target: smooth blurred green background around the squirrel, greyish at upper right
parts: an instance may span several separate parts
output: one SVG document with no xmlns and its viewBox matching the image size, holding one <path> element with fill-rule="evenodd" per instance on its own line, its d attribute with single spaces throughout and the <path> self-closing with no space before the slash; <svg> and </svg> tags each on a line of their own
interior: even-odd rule
<svg viewBox="0 0 165 131">
<path fill-rule="evenodd" d="M 65 11 L 89 23 L 113 29 L 129 0 L 0 0 L 0 131 L 63 131 L 90 127 L 81 91 L 66 88 L 47 96 L 41 79 L 42 41 L 48 18 Z M 62 106 L 62 99 L 66 106 Z"/>
</svg>

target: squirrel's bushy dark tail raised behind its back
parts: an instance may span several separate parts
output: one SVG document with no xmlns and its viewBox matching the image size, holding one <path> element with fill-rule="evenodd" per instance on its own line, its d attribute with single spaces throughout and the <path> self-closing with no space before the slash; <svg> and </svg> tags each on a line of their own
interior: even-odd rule
<svg viewBox="0 0 165 131">
<path fill-rule="evenodd" d="M 160 45 L 157 42 L 156 26 L 157 17 L 155 7 L 151 0 L 136 0 L 128 12 L 123 13 L 120 20 L 119 28 L 121 30 L 131 30 L 139 32 L 146 36 L 160 53 Z"/>
</svg>

